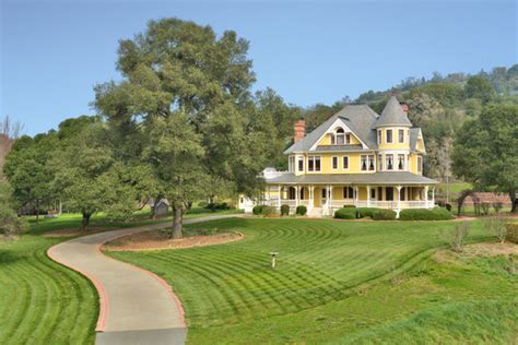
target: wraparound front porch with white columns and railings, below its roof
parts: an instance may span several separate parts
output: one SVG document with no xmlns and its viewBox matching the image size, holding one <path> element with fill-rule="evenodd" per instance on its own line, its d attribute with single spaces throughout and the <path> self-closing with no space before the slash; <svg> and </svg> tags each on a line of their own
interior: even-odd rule
<svg viewBox="0 0 518 345">
<path fill-rule="evenodd" d="M 295 185 L 269 186 L 264 204 L 280 209 L 304 205 L 313 216 L 332 216 L 344 205 L 378 207 L 398 213 L 405 209 L 432 209 L 435 204 L 434 186 L 346 186 Z"/>
</svg>

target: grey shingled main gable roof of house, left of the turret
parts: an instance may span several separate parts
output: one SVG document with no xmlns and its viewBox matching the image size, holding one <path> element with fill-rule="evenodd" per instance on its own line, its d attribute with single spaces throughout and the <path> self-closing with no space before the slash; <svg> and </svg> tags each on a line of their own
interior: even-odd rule
<svg viewBox="0 0 518 345">
<path fill-rule="evenodd" d="M 304 139 L 290 146 L 284 153 L 290 154 L 309 151 L 338 118 L 343 120 L 351 131 L 369 148 L 377 148 L 376 132 L 372 130 L 372 124 L 376 121 L 378 115 L 367 105 L 346 105 L 342 110 L 331 116 Z"/>
</svg>

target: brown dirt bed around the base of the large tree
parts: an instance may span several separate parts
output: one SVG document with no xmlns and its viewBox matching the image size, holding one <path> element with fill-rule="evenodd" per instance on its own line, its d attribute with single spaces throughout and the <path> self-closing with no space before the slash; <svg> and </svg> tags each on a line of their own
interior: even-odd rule
<svg viewBox="0 0 518 345">
<path fill-rule="evenodd" d="M 243 239 L 245 235 L 240 233 L 227 231 L 208 236 L 190 236 L 180 239 L 169 239 L 168 235 L 164 231 L 153 230 L 118 238 L 116 240 L 105 243 L 102 249 L 108 251 L 184 249 L 228 243 Z"/>
</svg>

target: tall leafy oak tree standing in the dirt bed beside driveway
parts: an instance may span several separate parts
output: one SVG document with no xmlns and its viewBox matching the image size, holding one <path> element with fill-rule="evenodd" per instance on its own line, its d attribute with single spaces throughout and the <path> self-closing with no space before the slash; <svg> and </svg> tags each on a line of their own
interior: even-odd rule
<svg viewBox="0 0 518 345">
<path fill-rule="evenodd" d="M 174 209 L 173 237 L 181 237 L 189 204 L 221 180 L 242 192 L 260 171 L 250 154 L 245 110 L 255 81 L 248 41 L 232 31 L 178 19 L 151 21 L 120 41 L 122 82 L 95 87 L 95 106 L 118 138 L 123 162 L 140 162 L 156 177 Z M 138 138 L 134 147 L 128 141 Z M 123 144 L 126 143 L 126 144 Z"/>
</svg>

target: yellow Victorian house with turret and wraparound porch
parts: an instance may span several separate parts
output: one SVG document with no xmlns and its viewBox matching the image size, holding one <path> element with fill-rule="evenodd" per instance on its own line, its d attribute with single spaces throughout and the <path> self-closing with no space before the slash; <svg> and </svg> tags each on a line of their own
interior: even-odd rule
<svg viewBox="0 0 518 345">
<path fill-rule="evenodd" d="M 307 135 L 305 122 L 296 122 L 294 144 L 284 152 L 289 170 L 264 169 L 259 202 L 305 205 L 310 216 L 332 215 L 344 205 L 398 215 L 433 207 L 437 181 L 423 176 L 423 134 L 407 110 L 392 96 L 381 115 L 367 105 L 348 105 Z"/>
</svg>

